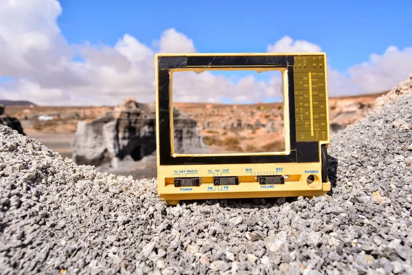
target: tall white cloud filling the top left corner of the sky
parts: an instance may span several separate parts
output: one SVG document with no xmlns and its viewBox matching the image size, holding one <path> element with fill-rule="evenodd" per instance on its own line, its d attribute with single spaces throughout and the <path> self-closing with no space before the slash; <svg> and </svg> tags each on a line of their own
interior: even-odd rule
<svg viewBox="0 0 412 275">
<path fill-rule="evenodd" d="M 56 69 L 69 56 L 56 23 L 62 8 L 57 1 L 12 1 L 0 3 L 0 75 L 18 77 L 38 69 Z"/>
</svg>

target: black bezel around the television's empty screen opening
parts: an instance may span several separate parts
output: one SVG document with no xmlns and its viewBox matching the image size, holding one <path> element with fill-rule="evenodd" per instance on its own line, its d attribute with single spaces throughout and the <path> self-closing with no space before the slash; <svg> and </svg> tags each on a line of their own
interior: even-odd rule
<svg viewBox="0 0 412 275">
<path fill-rule="evenodd" d="M 295 96 L 293 81 L 293 55 L 284 56 L 157 56 L 157 116 L 159 130 L 159 163 L 160 165 L 192 165 L 192 164 L 259 164 L 259 163 L 295 163 L 319 162 L 319 142 L 296 142 L 295 136 Z M 172 69 L 214 69 L 224 67 L 237 68 L 285 68 L 288 74 L 289 104 L 289 142 L 290 153 L 287 155 L 172 155 L 170 126 L 170 70 Z M 286 96 L 286 95 L 285 95 Z"/>
</svg>

